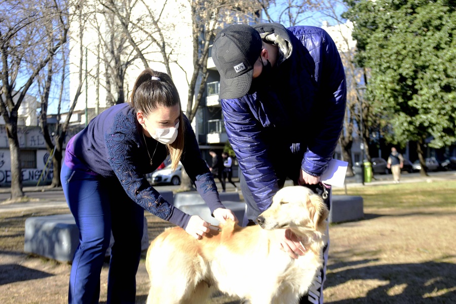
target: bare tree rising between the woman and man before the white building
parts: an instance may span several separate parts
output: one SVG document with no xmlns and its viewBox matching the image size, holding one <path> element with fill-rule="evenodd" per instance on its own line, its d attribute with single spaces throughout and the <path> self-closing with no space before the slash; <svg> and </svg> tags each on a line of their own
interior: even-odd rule
<svg viewBox="0 0 456 304">
<path fill-rule="evenodd" d="M 182 3 L 179 9 L 184 12 L 189 10 L 191 14 L 189 25 L 192 27 L 192 48 L 186 48 L 185 51 L 192 52 L 193 65 L 192 69 L 188 70 L 179 61 L 179 55 L 182 55 L 177 53 L 179 42 L 169 39 L 175 30 L 179 30 L 179 22 L 166 16 L 166 11 L 169 10 L 167 6 L 174 8 L 175 2 L 165 0 L 160 8 L 151 6 L 144 0 L 100 0 L 99 3 L 116 16 L 116 23 L 122 28 L 124 36 L 144 67 L 148 67 L 149 62 L 160 62 L 172 77 L 171 65 L 175 64 L 185 73 L 188 85 L 185 113 L 190 121 L 194 120 L 205 96 L 209 75 L 207 59 L 216 30 L 226 23 L 238 22 L 241 19 L 247 21 L 248 18 L 251 20 L 260 9 L 256 1 L 188 0 Z M 138 13 L 138 6 L 142 13 Z M 183 189 L 191 188 L 191 182 L 185 173 L 181 185 Z"/>
</svg>

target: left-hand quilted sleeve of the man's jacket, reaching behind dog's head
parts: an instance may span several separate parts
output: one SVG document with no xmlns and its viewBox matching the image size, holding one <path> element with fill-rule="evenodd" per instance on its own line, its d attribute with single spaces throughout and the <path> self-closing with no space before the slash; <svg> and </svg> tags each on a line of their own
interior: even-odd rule
<svg viewBox="0 0 456 304">
<path fill-rule="evenodd" d="M 239 99 L 222 99 L 226 133 L 239 160 L 239 166 L 258 208 L 266 210 L 279 190 L 267 148 L 261 139 L 261 123 L 249 106 L 254 99 L 246 95 Z"/>
</svg>

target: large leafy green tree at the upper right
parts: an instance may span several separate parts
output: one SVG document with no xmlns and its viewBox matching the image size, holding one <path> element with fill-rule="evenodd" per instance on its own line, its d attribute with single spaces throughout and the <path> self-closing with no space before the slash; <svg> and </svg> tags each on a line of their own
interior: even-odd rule
<svg viewBox="0 0 456 304">
<path fill-rule="evenodd" d="M 369 70 L 366 98 L 393 143 L 456 142 L 456 5 L 443 0 L 348 1 L 357 63 Z"/>
</svg>

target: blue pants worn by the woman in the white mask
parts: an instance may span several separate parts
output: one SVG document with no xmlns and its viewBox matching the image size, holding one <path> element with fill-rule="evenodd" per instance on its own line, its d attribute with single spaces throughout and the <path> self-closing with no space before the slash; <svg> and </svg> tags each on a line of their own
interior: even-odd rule
<svg viewBox="0 0 456 304">
<path fill-rule="evenodd" d="M 68 303 L 98 303 L 100 273 L 109 247 L 107 303 L 134 303 L 141 256 L 144 209 L 119 180 L 62 166 L 63 193 L 79 228 L 80 244 L 71 266 Z"/>
</svg>

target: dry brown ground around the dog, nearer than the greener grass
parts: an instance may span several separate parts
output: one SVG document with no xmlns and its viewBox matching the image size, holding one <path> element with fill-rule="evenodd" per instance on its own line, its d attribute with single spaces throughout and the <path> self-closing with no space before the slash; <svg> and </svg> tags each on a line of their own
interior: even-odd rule
<svg viewBox="0 0 456 304">
<path fill-rule="evenodd" d="M 62 208 L 0 214 L 0 303 L 66 302 L 70 265 L 24 254 L 23 235 L 27 217 L 67 212 Z M 364 212 L 363 220 L 330 227 L 326 303 L 456 302 L 456 206 Z M 149 240 L 170 226 L 145 215 Z M 137 303 L 145 302 L 149 288 L 144 257 L 145 253 L 136 277 Z M 106 301 L 107 266 L 101 274 L 100 302 Z M 211 303 L 239 301 L 218 296 Z"/>
</svg>

